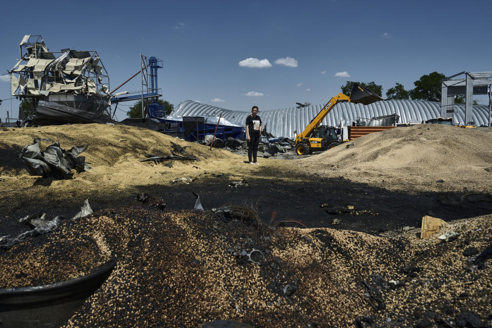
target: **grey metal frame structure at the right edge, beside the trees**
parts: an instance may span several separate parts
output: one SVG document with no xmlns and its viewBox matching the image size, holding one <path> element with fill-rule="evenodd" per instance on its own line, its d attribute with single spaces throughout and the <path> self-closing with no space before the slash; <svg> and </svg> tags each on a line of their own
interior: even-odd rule
<svg viewBox="0 0 492 328">
<path fill-rule="evenodd" d="M 459 75 L 465 75 L 465 78 L 452 79 Z M 465 96 L 465 115 L 463 123 L 468 122 L 478 124 L 474 119 L 475 106 L 473 106 L 473 95 L 488 94 L 488 114 L 486 124 L 490 127 L 490 112 L 492 111 L 492 72 L 461 72 L 446 77 L 441 82 L 441 117 L 451 117 L 455 120 L 455 96 Z M 483 124 L 481 122 L 481 124 Z"/>
</svg>

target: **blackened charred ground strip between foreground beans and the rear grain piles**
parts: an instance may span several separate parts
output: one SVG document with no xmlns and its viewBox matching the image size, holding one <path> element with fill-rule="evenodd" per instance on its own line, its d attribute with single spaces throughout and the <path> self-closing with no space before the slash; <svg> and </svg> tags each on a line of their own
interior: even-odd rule
<svg viewBox="0 0 492 328">
<path fill-rule="evenodd" d="M 228 173 L 203 173 L 170 185 L 135 187 L 125 194 L 80 191 L 77 199 L 66 199 L 64 191 L 52 191 L 38 199 L 2 196 L 4 216 L 1 235 L 24 229 L 17 219 L 42 211 L 48 217 L 72 217 L 88 198 L 94 210 L 135 204 L 136 195 L 147 193 L 162 198 L 169 211 L 191 210 L 197 193 L 204 209 L 225 204 L 246 205 L 257 209 L 260 219 L 270 223 L 281 219 L 300 220 L 309 228 L 329 227 L 378 235 L 403 227 L 419 227 L 422 216 L 431 215 L 445 221 L 492 213 L 492 197 L 486 193 L 422 192 L 405 193 L 376 188 L 344 178 L 310 176 L 299 172 L 283 172 L 273 177 L 272 170 L 259 167 L 254 177 L 244 178 Z M 51 178 L 36 183 L 49 185 Z M 188 182 L 189 181 L 189 182 Z M 435 182 L 441 183 L 441 182 Z M 352 208 L 353 207 L 353 208 Z M 338 219 L 335 220 L 334 219 Z M 296 223 L 282 223 L 300 227 Z"/>
</svg>

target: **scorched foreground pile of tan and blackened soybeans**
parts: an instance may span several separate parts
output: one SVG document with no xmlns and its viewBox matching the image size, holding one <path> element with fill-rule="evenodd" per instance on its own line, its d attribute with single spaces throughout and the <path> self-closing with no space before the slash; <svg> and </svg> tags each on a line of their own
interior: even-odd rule
<svg viewBox="0 0 492 328">
<path fill-rule="evenodd" d="M 492 216 L 448 224 L 460 237 L 439 242 L 417 239 L 416 229 L 383 237 L 275 229 L 240 213 L 99 211 L 50 234 L 79 250 L 44 248 L 15 263 L 8 254 L 24 243 L 3 252 L 0 268 L 23 275 L 3 272 L 0 285 L 29 285 L 31 273 L 33 283 L 63 280 L 115 259 L 109 278 L 64 327 L 192 327 L 218 319 L 255 327 L 490 324 Z M 79 251 L 93 256 L 70 261 Z M 54 272 L 58 263 L 63 270 Z"/>
</svg>

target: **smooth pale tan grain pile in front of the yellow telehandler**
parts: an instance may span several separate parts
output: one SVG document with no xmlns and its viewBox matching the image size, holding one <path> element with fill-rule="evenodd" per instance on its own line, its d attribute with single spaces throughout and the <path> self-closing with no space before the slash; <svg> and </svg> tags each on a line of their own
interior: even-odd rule
<svg viewBox="0 0 492 328">
<path fill-rule="evenodd" d="M 301 159 L 297 167 L 392 190 L 490 192 L 490 145 L 490 132 L 417 125 L 365 135 Z"/>
</svg>

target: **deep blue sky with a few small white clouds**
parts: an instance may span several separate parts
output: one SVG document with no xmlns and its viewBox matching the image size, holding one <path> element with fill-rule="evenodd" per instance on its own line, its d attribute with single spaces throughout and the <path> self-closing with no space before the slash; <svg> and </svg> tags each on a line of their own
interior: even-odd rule
<svg viewBox="0 0 492 328">
<path fill-rule="evenodd" d="M 304 101 L 324 105 L 346 80 L 375 81 L 384 97 L 397 82 L 412 89 L 433 71 L 448 76 L 492 71 L 489 5 L 482 0 L 27 1 L 18 7 L 7 2 L 1 5 L 0 74 L 16 63 L 24 34 L 40 34 L 51 51 L 96 50 L 111 90 L 139 70 L 140 53 L 162 59 L 162 98 L 175 106 L 188 99 L 231 110 L 257 105 L 260 112 Z M 5 77 L 0 76 L 0 99 L 10 98 Z M 138 76 L 118 92 L 137 90 Z M 121 105 L 126 110 L 131 103 Z M 4 100 L 2 121 L 11 106 L 11 116 L 17 115 L 18 101 Z M 125 117 L 118 110 L 117 118 Z"/>
</svg>

